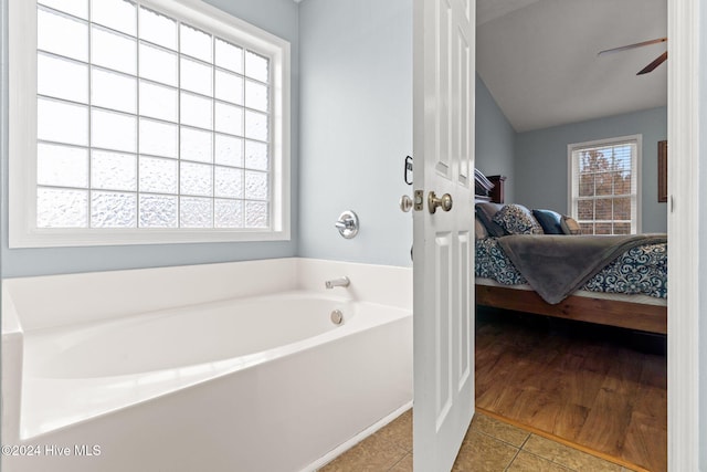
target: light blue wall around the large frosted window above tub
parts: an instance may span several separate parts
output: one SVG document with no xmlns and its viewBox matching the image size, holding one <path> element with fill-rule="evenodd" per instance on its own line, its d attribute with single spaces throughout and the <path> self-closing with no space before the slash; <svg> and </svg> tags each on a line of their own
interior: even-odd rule
<svg viewBox="0 0 707 472">
<path fill-rule="evenodd" d="M 2 85 L 0 90 L 0 168 L 2 206 L 0 261 L 3 277 L 104 271 L 131 268 L 199 264 L 296 255 L 298 208 L 298 8 L 292 0 L 207 0 L 207 2 L 291 42 L 292 48 L 292 234 L 291 241 L 264 243 L 151 244 L 103 248 L 13 249 L 8 248 L 8 0 L 1 0 Z"/>
</svg>

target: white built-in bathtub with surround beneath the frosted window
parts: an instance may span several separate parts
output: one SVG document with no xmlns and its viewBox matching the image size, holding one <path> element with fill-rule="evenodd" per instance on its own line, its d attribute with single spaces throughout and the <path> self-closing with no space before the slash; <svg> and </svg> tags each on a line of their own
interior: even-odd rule
<svg viewBox="0 0 707 472">
<path fill-rule="evenodd" d="M 214 293 L 209 269 L 240 289 Z M 261 270 L 273 274 L 257 285 L 266 294 L 243 293 L 238 281 Z M 313 470 L 410 405 L 408 270 L 278 260 L 170 271 L 3 281 L 3 471 Z M 324 290 L 340 275 L 349 289 Z M 193 295 L 200 284 L 210 300 Z M 102 298 L 113 308 L 96 313 Z"/>
</svg>

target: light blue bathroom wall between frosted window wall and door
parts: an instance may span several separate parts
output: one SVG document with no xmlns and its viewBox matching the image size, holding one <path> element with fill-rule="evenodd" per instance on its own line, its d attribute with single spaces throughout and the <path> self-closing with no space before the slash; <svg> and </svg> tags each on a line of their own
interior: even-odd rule
<svg viewBox="0 0 707 472">
<path fill-rule="evenodd" d="M 412 0 L 305 0 L 299 40 L 299 255 L 410 265 Z M 349 209 L 361 230 L 345 240 Z"/>
</svg>

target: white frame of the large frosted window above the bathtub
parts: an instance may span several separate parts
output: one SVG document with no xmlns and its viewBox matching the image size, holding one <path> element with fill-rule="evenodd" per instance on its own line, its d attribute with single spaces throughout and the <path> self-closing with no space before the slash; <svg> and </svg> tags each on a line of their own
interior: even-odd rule
<svg viewBox="0 0 707 472">
<path fill-rule="evenodd" d="M 133 0 L 271 60 L 270 227 L 38 228 L 36 0 L 9 2 L 9 245 L 51 248 L 291 239 L 289 42 L 201 0 Z M 29 156 L 29 157 L 28 157 Z"/>
</svg>

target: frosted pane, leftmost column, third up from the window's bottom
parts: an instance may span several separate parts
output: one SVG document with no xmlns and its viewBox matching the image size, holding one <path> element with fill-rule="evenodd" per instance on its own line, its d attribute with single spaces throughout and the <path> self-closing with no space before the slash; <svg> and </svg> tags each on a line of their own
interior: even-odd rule
<svg viewBox="0 0 707 472">
<path fill-rule="evenodd" d="M 87 146 L 88 107 L 38 98 L 36 137 L 43 140 Z"/>
</svg>

